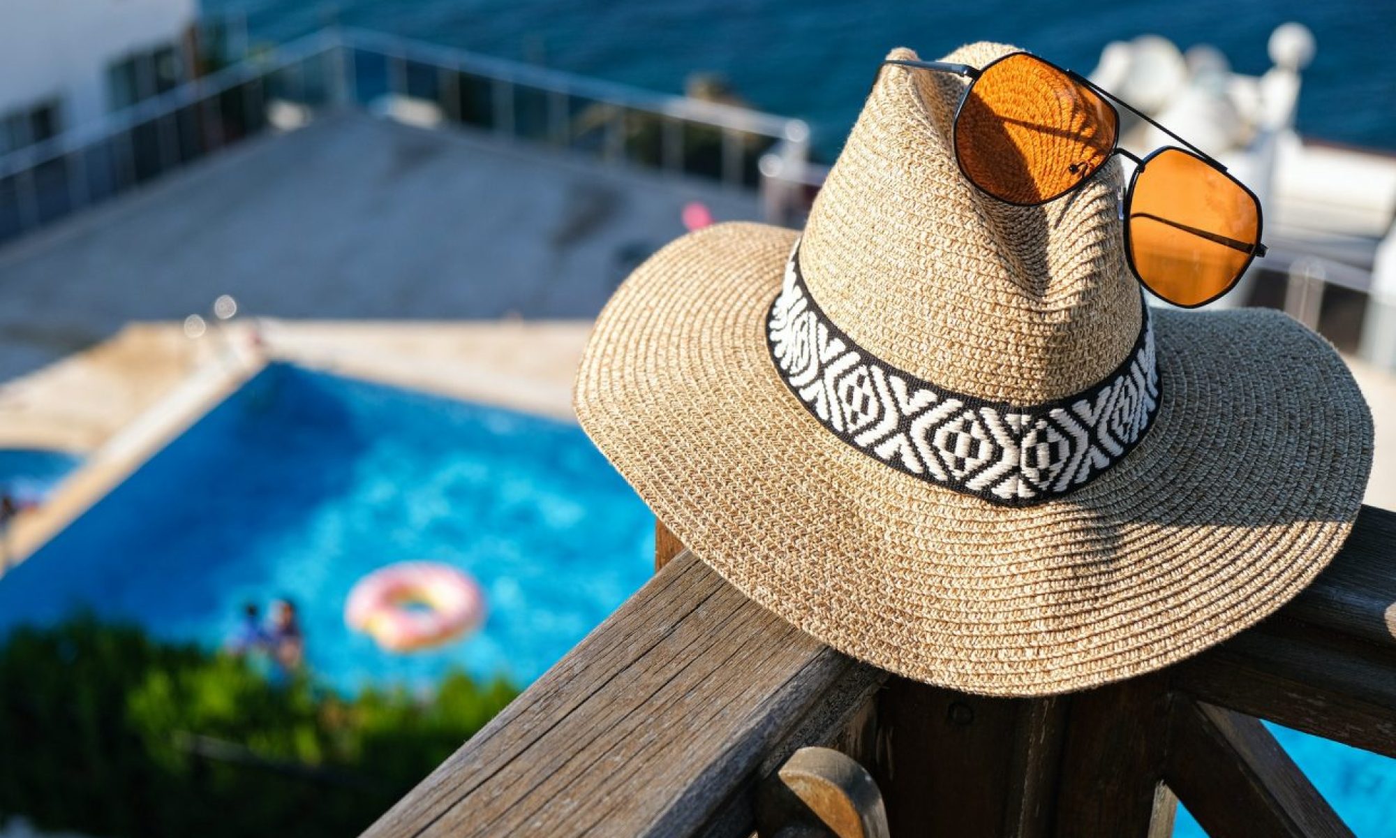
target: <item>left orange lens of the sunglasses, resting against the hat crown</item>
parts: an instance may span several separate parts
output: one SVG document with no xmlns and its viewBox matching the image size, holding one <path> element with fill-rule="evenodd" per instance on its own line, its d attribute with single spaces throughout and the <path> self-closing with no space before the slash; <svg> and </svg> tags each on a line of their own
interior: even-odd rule
<svg viewBox="0 0 1396 838">
<path fill-rule="evenodd" d="M 1026 53 L 990 64 L 955 120 L 955 154 L 965 175 L 1013 204 L 1055 198 L 1089 177 L 1114 148 L 1114 110 Z"/>
</svg>

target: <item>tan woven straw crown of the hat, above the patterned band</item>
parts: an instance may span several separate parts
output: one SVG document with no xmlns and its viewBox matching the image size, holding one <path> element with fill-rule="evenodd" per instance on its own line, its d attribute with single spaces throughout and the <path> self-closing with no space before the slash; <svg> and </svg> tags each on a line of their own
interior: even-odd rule
<svg viewBox="0 0 1396 838">
<path fill-rule="evenodd" d="M 1011 52 L 976 43 L 945 60 L 983 67 Z M 990 401 L 1065 398 L 1108 376 L 1139 335 L 1120 163 L 1041 207 L 981 193 L 953 151 L 966 84 L 881 71 L 811 210 L 801 274 L 829 320 L 888 365 Z"/>
</svg>

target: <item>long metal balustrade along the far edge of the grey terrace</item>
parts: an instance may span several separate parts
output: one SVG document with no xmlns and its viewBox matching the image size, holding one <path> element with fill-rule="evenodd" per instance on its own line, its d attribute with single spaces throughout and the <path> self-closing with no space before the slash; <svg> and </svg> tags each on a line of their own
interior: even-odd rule
<svg viewBox="0 0 1396 838">
<path fill-rule="evenodd" d="M 797 189 L 808 127 L 359 29 L 327 29 L 0 156 L 0 243 L 338 108 L 465 126 L 730 189 Z M 769 158 L 765 166 L 762 158 Z M 782 221 L 782 218 L 772 218 Z"/>
</svg>

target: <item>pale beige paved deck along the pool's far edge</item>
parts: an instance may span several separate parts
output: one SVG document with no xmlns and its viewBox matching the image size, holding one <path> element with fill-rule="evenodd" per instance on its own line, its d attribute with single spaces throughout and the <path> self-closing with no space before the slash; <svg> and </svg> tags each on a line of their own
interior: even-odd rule
<svg viewBox="0 0 1396 838">
<path fill-rule="evenodd" d="M 261 349 L 253 349 L 254 331 Z M 591 321 L 262 320 L 191 341 L 174 323 L 133 323 L 0 383 L 0 448 L 88 454 L 200 370 L 264 360 L 571 419 L 589 332 Z"/>
</svg>

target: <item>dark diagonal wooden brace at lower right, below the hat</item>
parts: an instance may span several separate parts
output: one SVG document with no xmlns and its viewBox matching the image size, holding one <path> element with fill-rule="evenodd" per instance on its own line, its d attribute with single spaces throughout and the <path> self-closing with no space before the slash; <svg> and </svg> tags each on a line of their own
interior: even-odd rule
<svg viewBox="0 0 1396 838">
<path fill-rule="evenodd" d="M 1173 703 L 1164 779 L 1212 838 L 1351 838 L 1353 832 L 1256 719 Z"/>
</svg>

